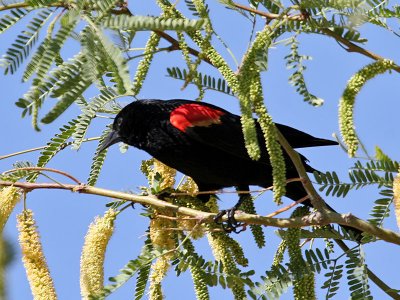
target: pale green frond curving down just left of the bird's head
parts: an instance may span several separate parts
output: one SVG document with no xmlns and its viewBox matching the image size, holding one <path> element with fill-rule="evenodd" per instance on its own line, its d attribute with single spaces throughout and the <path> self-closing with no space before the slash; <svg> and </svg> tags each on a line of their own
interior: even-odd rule
<svg viewBox="0 0 400 300">
<path fill-rule="evenodd" d="M 86 105 L 86 107 L 82 110 L 82 113 L 77 118 L 75 131 L 72 134 L 72 139 L 74 140 L 72 149 L 78 150 L 80 148 L 92 119 L 96 117 L 96 113 L 107 103 L 115 100 L 118 97 L 115 91 L 111 88 L 103 89 L 100 92 L 101 94 L 94 97 Z"/>
</svg>

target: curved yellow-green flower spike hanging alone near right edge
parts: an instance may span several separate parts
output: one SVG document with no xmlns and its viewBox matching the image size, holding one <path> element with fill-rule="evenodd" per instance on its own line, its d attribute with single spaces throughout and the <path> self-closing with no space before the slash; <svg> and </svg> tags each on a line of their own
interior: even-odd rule
<svg viewBox="0 0 400 300">
<path fill-rule="evenodd" d="M 393 65 L 394 63 L 391 60 L 378 60 L 363 67 L 347 82 L 347 86 L 339 102 L 339 126 L 350 157 L 356 154 L 359 143 L 353 115 L 356 96 L 368 80 L 392 69 Z"/>
</svg>

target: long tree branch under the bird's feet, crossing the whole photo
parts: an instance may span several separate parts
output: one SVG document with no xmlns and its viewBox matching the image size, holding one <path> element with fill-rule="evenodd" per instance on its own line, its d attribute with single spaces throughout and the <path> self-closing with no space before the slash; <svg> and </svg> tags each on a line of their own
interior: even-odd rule
<svg viewBox="0 0 400 300">
<path fill-rule="evenodd" d="M 140 203 L 143 205 L 150 205 L 156 208 L 164 208 L 185 216 L 195 217 L 201 222 L 211 223 L 214 222 L 215 213 L 204 212 L 200 210 L 191 209 L 184 206 L 178 206 L 163 200 L 157 199 L 155 196 L 138 196 L 113 190 L 107 190 L 88 185 L 73 185 L 73 184 L 57 184 L 57 183 L 29 183 L 29 182 L 10 182 L 0 181 L 0 186 L 14 186 L 21 188 L 25 192 L 30 192 L 35 189 L 59 189 L 69 190 L 82 194 L 97 195 L 102 197 L 120 199 Z M 319 212 L 305 217 L 298 218 L 269 218 L 259 215 L 238 213 L 235 215 L 238 222 L 246 224 L 258 224 L 264 226 L 280 227 L 280 228 L 299 228 L 310 225 L 327 225 L 330 223 L 337 223 L 347 225 L 359 229 L 363 232 L 373 234 L 386 242 L 400 245 L 400 235 L 387 229 L 373 226 L 355 216 L 349 214 L 338 214 L 334 212 L 327 212 L 321 214 Z M 226 216 L 223 217 L 226 220 Z"/>
</svg>

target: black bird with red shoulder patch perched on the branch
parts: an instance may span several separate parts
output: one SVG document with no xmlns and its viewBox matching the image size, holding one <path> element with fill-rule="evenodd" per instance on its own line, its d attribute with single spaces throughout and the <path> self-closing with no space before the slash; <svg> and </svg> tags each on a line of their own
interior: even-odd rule
<svg viewBox="0 0 400 300">
<path fill-rule="evenodd" d="M 124 107 L 115 117 L 113 131 L 101 150 L 124 142 L 149 153 L 162 163 L 190 176 L 199 191 L 215 191 L 225 187 L 248 190 L 249 185 L 270 187 L 272 167 L 264 137 L 256 122 L 261 158 L 252 160 L 245 148 L 240 117 L 220 107 L 188 100 L 139 100 Z M 313 137 L 289 126 L 276 124 L 293 148 L 337 145 L 336 142 Z M 286 178 L 299 175 L 289 157 Z M 313 172 L 307 159 L 301 159 L 308 172 Z M 307 193 L 299 181 L 288 183 L 286 196 L 299 200 Z M 201 195 L 203 201 L 209 195 Z M 231 209 L 228 227 L 234 229 Z M 303 204 L 311 206 L 309 200 Z M 225 212 L 225 211 L 224 211 Z"/>
</svg>

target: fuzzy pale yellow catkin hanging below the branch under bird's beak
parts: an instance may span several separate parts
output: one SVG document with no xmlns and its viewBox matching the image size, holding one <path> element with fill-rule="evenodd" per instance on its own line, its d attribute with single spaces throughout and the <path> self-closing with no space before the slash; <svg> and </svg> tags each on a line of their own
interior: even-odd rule
<svg viewBox="0 0 400 300">
<path fill-rule="evenodd" d="M 90 224 L 81 255 L 80 285 L 83 299 L 99 294 L 104 284 L 104 258 L 114 232 L 117 211 L 109 209 Z"/>
</svg>

